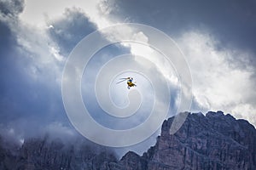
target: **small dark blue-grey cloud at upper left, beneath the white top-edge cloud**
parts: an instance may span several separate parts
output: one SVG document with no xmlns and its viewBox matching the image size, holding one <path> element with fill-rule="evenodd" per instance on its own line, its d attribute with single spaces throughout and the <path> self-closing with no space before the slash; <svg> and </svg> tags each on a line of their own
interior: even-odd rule
<svg viewBox="0 0 256 170">
<path fill-rule="evenodd" d="M 82 38 L 96 31 L 96 25 L 79 8 L 67 8 L 61 18 L 51 20 L 49 24 L 53 26 L 49 34 L 64 55 L 69 54 Z"/>
</svg>

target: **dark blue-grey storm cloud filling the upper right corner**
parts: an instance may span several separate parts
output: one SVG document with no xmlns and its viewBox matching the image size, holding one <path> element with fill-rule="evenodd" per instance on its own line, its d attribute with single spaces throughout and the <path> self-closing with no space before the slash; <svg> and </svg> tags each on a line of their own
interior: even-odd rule
<svg viewBox="0 0 256 170">
<path fill-rule="evenodd" d="M 209 31 L 221 42 L 216 47 L 219 50 L 231 47 L 256 53 L 256 1 L 121 0 L 108 3 L 112 6 L 112 16 L 121 20 L 155 26 L 172 37 L 193 29 Z M 255 57 L 249 59 L 255 64 Z"/>
</svg>

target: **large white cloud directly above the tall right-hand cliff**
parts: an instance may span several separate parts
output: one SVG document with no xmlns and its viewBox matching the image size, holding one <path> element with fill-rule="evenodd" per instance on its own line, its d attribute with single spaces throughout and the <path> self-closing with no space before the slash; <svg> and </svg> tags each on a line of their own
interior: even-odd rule
<svg viewBox="0 0 256 170">
<path fill-rule="evenodd" d="M 231 61 L 247 52 L 225 48 L 218 50 L 217 40 L 199 31 L 190 31 L 178 39 L 192 72 L 196 101 L 207 110 L 230 112 L 254 123 L 256 98 L 253 90 L 253 69 L 234 67 Z M 244 59 L 246 59 L 244 57 Z"/>
</svg>

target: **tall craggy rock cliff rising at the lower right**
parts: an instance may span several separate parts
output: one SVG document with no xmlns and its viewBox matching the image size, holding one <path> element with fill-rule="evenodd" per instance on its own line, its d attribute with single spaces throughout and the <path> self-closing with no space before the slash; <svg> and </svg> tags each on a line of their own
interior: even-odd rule
<svg viewBox="0 0 256 170">
<path fill-rule="evenodd" d="M 223 112 L 190 114 L 174 135 L 165 121 L 155 146 L 144 154 L 148 169 L 256 169 L 256 131 Z"/>
</svg>

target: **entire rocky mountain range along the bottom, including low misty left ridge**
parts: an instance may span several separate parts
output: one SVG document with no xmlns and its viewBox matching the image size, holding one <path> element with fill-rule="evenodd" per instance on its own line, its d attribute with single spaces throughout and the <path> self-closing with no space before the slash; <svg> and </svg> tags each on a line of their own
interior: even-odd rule
<svg viewBox="0 0 256 170">
<path fill-rule="evenodd" d="M 14 151 L 0 140 L 0 169 L 256 169 L 256 130 L 249 122 L 222 111 L 189 113 L 171 135 L 173 119 L 163 122 L 156 144 L 143 156 L 129 151 L 120 160 L 102 146 L 29 139 Z"/>
</svg>

